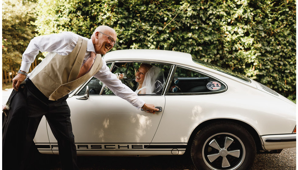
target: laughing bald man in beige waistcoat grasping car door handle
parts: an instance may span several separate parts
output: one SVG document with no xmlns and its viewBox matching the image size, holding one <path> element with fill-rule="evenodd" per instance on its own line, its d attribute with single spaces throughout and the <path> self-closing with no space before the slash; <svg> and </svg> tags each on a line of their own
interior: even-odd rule
<svg viewBox="0 0 298 170">
<path fill-rule="evenodd" d="M 12 80 L 12 87 L 17 91 L 26 79 L 24 93 L 28 123 L 25 153 L 28 152 L 44 115 L 58 141 L 62 169 L 78 169 L 70 109 L 66 99 L 71 90 L 92 76 L 136 108 L 151 113 L 158 111 L 154 105 L 145 104 L 139 99 L 137 94 L 122 84 L 106 66 L 100 54 L 106 54 L 112 49 L 116 45 L 116 38 L 114 29 L 102 25 L 95 29 L 91 39 L 72 32 L 62 32 L 31 40 L 23 53 L 21 68 Z M 29 67 L 39 51 L 50 53 L 27 77 Z"/>
</svg>

